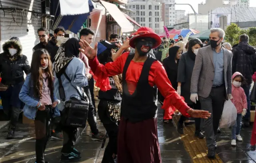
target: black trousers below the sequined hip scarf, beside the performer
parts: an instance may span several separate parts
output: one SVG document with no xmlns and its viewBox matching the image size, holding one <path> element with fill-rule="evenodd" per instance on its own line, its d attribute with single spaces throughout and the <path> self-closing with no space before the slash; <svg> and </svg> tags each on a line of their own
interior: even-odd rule
<svg viewBox="0 0 256 163">
<path fill-rule="evenodd" d="M 98 105 L 98 114 L 109 137 L 108 145 L 106 146 L 102 158 L 102 163 L 114 163 L 112 155 L 117 154 L 118 124 L 110 120 L 106 111 L 108 111 L 108 102 L 100 100 Z"/>
</svg>

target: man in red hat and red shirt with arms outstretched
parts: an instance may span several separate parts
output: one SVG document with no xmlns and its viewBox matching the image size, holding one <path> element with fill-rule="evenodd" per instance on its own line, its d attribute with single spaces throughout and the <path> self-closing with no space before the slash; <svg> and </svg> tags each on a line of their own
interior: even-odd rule
<svg viewBox="0 0 256 163">
<path fill-rule="evenodd" d="M 186 116 L 210 117 L 208 111 L 188 107 L 172 88 L 162 64 L 148 54 L 160 44 L 161 38 L 151 28 L 141 27 L 130 39 L 130 47 L 135 49 L 135 54 L 126 52 L 104 66 L 96 57 L 97 45 L 92 48 L 85 40 L 80 41 L 80 51 L 88 57 L 91 70 L 101 84 L 109 83 L 108 76 L 122 74 L 119 163 L 162 162 L 157 136 L 157 88 L 165 97 L 163 109 L 174 106 Z"/>
</svg>

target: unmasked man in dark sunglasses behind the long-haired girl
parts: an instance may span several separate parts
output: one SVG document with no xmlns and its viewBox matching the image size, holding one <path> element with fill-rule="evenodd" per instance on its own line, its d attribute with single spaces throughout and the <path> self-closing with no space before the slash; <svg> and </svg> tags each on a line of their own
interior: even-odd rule
<svg viewBox="0 0 256 163">
<path fill-rule="evenodd" d="M 49 33 L 48 30 L 44 27 L 41 27 L 37 30 L 38 38 L 40 40 L 39 44 L 34 46 L 33 52 L 38 50 L 38 49 L 45 49 L 46 45 L 48 44 L 48 38 L 49 38 Z"/>
</svg>

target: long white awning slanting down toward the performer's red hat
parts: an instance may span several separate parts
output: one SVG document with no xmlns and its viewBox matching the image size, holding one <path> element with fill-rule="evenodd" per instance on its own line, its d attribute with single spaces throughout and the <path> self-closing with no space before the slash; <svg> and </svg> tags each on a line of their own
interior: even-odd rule
<svg viewBox="0 0 256 163">
<path fill-rule="evenodd" d="M 114 18 L 118 25 L 122 28 L 122 32 L 130 32 L 134 30 L 132 24 L 127 20 L 119 8 L 111 3 L 100 0 L 101 4 L 106 8 L 109 14 Z"/>
</svg>

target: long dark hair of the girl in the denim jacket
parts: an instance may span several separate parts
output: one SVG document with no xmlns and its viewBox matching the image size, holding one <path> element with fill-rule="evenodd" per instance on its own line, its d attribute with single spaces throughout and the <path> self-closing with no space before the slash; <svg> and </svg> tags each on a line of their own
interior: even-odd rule
<svg viewBox="0 0 256 163">
<path fill-rule="evenodd" d="M 44 70 L 46 76 L 48 76 L 48 87 L 50 89 L 50 96 L 53 100 L 53 71 L 52 71 L 52 62 L 51 57 L 47 50 L 38 49 L 33 53 L 32 61 L 31 61 L 31 78 L 33 81 L 34 95 L 38 98 L 42 98 L 42 87 L 43 87 L 43 71 L 41 68 L 41 55 L 46 54 L 48 58 L 48 67 Z"/>
</svg>

